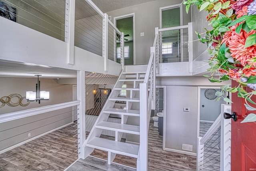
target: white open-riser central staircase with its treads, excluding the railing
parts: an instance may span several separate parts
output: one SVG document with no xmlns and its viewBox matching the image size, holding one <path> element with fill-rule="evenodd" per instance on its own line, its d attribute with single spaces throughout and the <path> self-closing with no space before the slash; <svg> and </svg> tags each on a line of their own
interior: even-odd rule
<svg viewBox="0 0 256 171">
<path fill-rule="evenodd" d="M 108 164 L 111 164 L 116 154 L 126 155 L 138 158 L 140 145 L 120 142 L 123 133 L 140 135 L 139 125 L 128 125 L 129 117 L 132 119 L 140 119 L 140 83 L 144 82 L 147 65 L 140 66 L 125 66 L 120 74 L 109 98 L 107 99 L 96 123 L 92 127 L 88 135 L 84 148 L 85 157 L 88 157 L 94 149 L 108 151 Z M 122 88 L 126 84 L 127 88 Z M 120 97 L 120 91 L 126 90 L 126 97 Z M 116 101 L 125 101 L 124 109 L 115 109 Z M 108 122 L 108 117 L 115 115 L 121 118 L 121 123 Z M 131 118 L 130 118 L 131 119 Z M 100 135 L 103 129 L 115 131 L 115 141 L 101 138 Z M 139 161 L 138 161 L 139 162 Z M 140 164 L 137 162 L 137 165 Z M 138 167 L 137 167 L 138 168 Z M 138 169 L 139 170 L 139 169 Z"/>
</svg>

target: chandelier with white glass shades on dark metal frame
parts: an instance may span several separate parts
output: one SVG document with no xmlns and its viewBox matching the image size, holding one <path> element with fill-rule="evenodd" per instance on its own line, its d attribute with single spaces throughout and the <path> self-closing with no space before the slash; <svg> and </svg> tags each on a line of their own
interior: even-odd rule
<svg viewBox="0 0 256 171">
<path fill-rule="evenodd" d="M 40 103 L 40 100 L 49 100 L 49 97 L 50 97 L 49 91 L 40 91 L 39 76 L 42 76 L 42 75 L 35 75 L 35 76 L 37 76 L 36 92 L 26 91 L 27 101 L 38 101 L 38 103 Z"/>
</svg>

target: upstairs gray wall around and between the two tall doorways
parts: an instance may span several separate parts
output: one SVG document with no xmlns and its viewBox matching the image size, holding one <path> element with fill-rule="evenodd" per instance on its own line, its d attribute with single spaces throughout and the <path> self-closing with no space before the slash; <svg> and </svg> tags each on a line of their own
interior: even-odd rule
<svg viewBox="0 0 256 171">
<path fill-rule="evenodd" d="M 150 46 L 152 46 L 155 37 L 155 28 L 160 25 L 160 7 L 181 3 L 181 0 L 156 0 L 107 12 L 108 16 L 112 16 L 113 23 L 114 17 L 135 13 L 135 64 L 148 64 Z M 191 17 L 186 15 L 185 6 L 183 8 L 183 24 L 185 25 L 190 22 Z M 140 32 L 144 32 L 144 36 L 141 37 Z"/>
</svg>

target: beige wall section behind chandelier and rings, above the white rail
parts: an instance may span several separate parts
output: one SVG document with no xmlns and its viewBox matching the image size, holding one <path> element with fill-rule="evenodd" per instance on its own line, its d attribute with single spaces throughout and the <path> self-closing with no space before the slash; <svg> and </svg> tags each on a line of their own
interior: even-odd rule
<svg viewBox="0 0 256 171">
<path fill-rule="evenodd" d="M 39 78 L 39 80 L 41 81 L 41 90 L 50 91 L 49 100 L 42 100 L 40 104 L 36 101 L 30 102 L 25 107 L 20 105 L 15 107 L 4 105 L 4 107 L 0 108 L 0 114 L 72 101 L 72 85 L 57 84 L 54 79 Z M 37 78 L 0 77 L 0 83 L 2 87 L 0 89 L 0 98 L 12 93 L 17 93 L 24 97 L 26 96 L 26 91 L 36 91 Z M 16 100 L 12 99 L 14 102 Z M 22 102 L 27 103 L 26 99 Z"/>
</svg>

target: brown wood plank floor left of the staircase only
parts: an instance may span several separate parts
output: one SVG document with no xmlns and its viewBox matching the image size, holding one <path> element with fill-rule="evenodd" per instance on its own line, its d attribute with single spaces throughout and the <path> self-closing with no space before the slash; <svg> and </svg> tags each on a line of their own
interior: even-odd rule
<svg viewBox="0 0 256 171">
<path fill-rule="evenodd" d="M 0 154 L 0 171 L 64 170 L 78 158 L 74 125 Z"/>
</svg>

